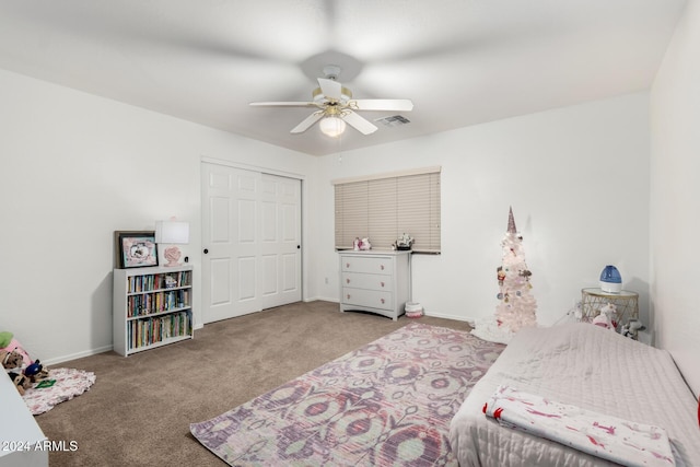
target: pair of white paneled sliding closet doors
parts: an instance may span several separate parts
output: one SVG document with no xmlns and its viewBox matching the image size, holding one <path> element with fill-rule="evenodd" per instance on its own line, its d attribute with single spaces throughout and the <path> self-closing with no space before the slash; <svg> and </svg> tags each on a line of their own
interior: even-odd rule
<svg viewBox="0 0 700 467">
<path fill-rule="evenodd" d="M 301 180 L 202 163 L 202 319 L 301 300 Z"/>
</svg>

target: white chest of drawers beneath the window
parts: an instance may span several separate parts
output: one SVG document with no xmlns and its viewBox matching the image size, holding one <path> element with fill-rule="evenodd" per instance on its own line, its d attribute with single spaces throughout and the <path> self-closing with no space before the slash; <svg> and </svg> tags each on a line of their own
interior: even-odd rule
<svg viewBox="0 0 700 467">
<path fill-rule="evenodd" d="M 339 252 L 340 311 L 365 311 L 396 320 L 411 300 L 411 252 Z"/>
</svg>

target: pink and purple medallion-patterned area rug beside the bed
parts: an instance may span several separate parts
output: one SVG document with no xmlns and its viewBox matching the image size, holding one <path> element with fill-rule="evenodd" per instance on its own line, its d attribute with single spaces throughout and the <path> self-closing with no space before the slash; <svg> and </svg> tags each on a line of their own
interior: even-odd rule
<svg viewBox="0 0 700 467">
<path fill-rule="evenodd" d="M 450 420 L 504 348 L 411 324 L 190 431 L 232 466 L 456 466 Z"/>
</svg>

